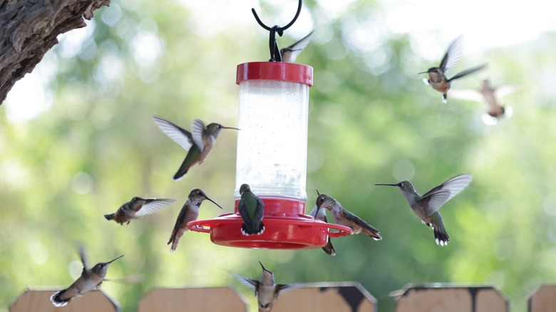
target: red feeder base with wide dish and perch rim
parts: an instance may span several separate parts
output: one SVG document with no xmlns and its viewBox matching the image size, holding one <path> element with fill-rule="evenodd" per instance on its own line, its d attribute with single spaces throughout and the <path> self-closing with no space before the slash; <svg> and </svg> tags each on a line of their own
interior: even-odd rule
<svg viewBox="0 0 556 312">
<path fill-rule="evenodd" d="M 245 236 L 241 232 L 243 220 L 237 212 L 222 214 L 215 219 L 187 223 L 187 229 L 210 233 L 210 240 L 218 245 L 242 248 L 315 249 L 326 245 L 328 237 L 351 234 L 351 228 L 321 222 L 303 214 L 305 203 L 292 199 L 261 198 L 264 202 L 264 233 Z M 336 229 L 338 232 L 330 232 Z"/>
</svg>

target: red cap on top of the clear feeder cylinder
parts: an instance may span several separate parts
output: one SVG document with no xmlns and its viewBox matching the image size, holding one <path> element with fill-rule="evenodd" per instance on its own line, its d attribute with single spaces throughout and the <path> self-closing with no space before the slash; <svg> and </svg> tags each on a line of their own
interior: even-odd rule
<svg viewBox="0 0 556 312">
<path fill-rule="evenodd" d="M 235 83 L 244 80 L 280 80 L 313 85 L 311 66 L 284 62 L 249 62 L 237 66 Z"/>
</svg>

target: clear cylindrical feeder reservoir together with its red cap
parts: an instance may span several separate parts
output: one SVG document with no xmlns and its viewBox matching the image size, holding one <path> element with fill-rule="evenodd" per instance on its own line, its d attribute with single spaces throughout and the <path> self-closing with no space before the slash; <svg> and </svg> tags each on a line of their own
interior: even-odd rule
<svg viewBox="0 0 556 312">
<path fill-rule="evenodd" d="M 237 68 L 240 85 L 235 199 L 249 184 L 259 197 L 305 202 L 312 68 L 254 62 Z"/>
</svg>

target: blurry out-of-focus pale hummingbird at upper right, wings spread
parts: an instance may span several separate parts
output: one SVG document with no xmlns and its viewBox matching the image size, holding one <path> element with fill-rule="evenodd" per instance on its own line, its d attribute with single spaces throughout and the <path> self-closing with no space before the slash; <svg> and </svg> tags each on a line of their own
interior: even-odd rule
<svg viewBox="0 0 556 312">
<path fill-rule="evenodd" d="M 501 85 L 497 88 L 493 88 L 490 86 L 488 79 L 483 79 L 482 88 L 478 90 L 452 90 L 450 92 L 450 97 L 484 102 L 487 110 L 486 114 L 492 118 L 502 118 L 503 116 L 510 117 L 512 109 L 509 106 L 504 107 L 500 105 L 498 98 L 513 93 L 516 90 L 518 90 L 517 85 Z"/>
</svg>

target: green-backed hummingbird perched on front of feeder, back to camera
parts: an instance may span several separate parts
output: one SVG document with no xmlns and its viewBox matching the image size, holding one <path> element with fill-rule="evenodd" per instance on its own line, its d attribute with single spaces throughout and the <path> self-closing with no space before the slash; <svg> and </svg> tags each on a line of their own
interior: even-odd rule
<svg viewBox="0 0 556 312">
<path fill-rule="evenodd" d="M 262 234 L 264 232 L 262 223 L 264 202 L 251 192 L 251 188 L 247 184 L 242 184 L 240 194 L 242 198 L 237 204 L 237 210 L 243 219 L 242 234 L 245 236 Z"/>
</svg>

